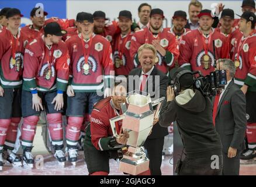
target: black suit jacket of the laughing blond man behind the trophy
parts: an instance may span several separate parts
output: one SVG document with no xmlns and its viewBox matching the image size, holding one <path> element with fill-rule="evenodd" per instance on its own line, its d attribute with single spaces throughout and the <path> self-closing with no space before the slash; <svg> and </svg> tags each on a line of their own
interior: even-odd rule
<svg viewBox="0 0 256 187">
<path fill-rule="evenodd" d="M 127 91 L 140 90 L 140 85 L 138 79 L 141 75 L 141 68 L 136 68 L 130 71 L 129 77 L 127 78 Z M 155 82 L 156 80 L 156 82 Z M 159 80 L 159 84 L 158 84 Z M 129 86 L 130 85 L 130 86 Z M 150 93 L 152 101 L 155 99 L 165 97 L 166 99 L 166 90 L 168 86 L 168 77 L 163 72 L 154 67 L 150 76 L 147 79 L 147 86 L 144 89 L 144 92 Z M 168 130 L 166 127 L 161 127 L 159 123 L 155 124 L 152 129 L 152 133 L 148 138 L 160 138 L 164 137 L 168 134 Z"/>
</svg>

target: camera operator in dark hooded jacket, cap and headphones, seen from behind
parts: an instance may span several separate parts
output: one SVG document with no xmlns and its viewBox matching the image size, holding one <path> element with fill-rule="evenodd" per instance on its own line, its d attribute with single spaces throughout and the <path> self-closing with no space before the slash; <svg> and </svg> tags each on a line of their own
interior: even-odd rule
<svg viewBox="0 0 256 187">
<path fill-rule="evenodd" d="M 174 68 L 170 73 L 174 88 L 167 88 L 167 105 L 159 123 L 167 127 L 176 121 L 181 134 L 186 157 L 178 161 L 175 172 L 178 175 L 222 175 L 222 143 L 213 126 L 210 99 L 193 89 L 191 71 Z"/>
</svg>

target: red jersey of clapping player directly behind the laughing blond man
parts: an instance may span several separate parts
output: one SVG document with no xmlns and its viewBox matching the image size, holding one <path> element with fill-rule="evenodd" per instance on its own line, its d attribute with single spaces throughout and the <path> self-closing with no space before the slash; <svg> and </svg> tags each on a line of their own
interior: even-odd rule
<svg viewBox="0 0 256 187">
<path fill-rule="evenodd" d="M 165 57 L 157 53 L 157 63 L 155 66 L 165 74 L 169 68 L 175 66 L 175 61 L 179 56 L 179 47 L 175 36 L 169 32 L 169 29 L 162 29 L 157 36 L 154 36 L 148 28 L 138 30 L 134 33 L 131 41 L 130 56 L 133 58 L 135 67 L 139 66 L 137 50 L 144 43 L 152 43 L 153 40 L 160 40 L 161 46 L 167 51 Z"/>
</svg>

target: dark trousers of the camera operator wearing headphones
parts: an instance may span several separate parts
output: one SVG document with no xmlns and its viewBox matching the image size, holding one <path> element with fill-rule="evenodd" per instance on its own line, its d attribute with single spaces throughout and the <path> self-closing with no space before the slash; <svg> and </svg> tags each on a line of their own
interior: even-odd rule
<svg viewBox="0 0 256 187">
<path fill-rule="evenodd" d="M 222 175 L 223 156 L 219 156 L 219 167 L 212 168 L 210 157 L 185 158 L 182 161 L 178 175 Z"/>
</svg>

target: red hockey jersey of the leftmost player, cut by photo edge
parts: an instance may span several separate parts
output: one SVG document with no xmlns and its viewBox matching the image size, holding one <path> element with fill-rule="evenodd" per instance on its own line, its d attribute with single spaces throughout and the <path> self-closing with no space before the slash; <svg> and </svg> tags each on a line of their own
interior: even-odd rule
<svg viewBox="0 0 256 187">
<path fill-rule="evenodd" d="M 0 30 L 0 85 L 3 88 L 22 85 L 23 56 L 28 40 L 20 30 L 18 37 L 7 28 Z"/>
</svg>

